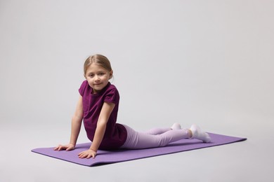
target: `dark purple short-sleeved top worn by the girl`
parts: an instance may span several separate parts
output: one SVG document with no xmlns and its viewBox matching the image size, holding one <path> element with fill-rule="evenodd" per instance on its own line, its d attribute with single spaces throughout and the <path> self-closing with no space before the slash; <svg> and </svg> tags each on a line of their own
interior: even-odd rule
<svg viewBox="0 0 274 182">
<path fill-rule="evenodd" d="M 104 102 L 114 103 L 115 108 L 107 121 L 105 135 L 99 149 L 109 150 L 119 148 L 124 144 L 127 137 L 126 128 L 123 125 L 116 123 L 119 108 L 119 92 L 115 85 L 110 83 L 96 94 L 91 94 L 92 90 L 93 89 L 89 86 L 87 80 L 84 80 L 79 88 L 79 93 L 83 98 L 84 127 L 86 135 L 93 141 L 98 118 Z"/>
</svg>

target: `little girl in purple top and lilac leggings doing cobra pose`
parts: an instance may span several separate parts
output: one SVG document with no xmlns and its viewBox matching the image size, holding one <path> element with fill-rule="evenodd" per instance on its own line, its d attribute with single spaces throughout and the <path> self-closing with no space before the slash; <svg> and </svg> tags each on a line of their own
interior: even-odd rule
<svg viewBox="0 0 274 182">
<path fill-rule="evenodd" d="M 210 142 L 209 134 L 200 127 L 181 129 L 174 123 L 171 127 L 155 128 L 148 132 L 136 132 L 126 125 L 116 123 L 119 108 L 119 92 L 110 84 L 113 71 L 110 61 L 103 55 L 93 55 L 84 63 L 86 80 L 79 88 L 79 101 L 72 117 L 70 144 L 59 145 L 54 150 L 74 150 L 84 119 L 87 137 L 92 144 L 87 151 L 79 153 L 79 158 L 95 158 L 98 149 L 118 148 L 141 149 L 167 146 L 180 139 L 199 139 Z"/>
</svg>

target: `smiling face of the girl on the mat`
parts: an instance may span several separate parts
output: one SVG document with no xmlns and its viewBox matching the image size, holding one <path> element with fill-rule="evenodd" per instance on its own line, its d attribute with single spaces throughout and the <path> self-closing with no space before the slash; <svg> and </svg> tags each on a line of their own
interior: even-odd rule
<svg viewBox="0 0 274 182">
<path fill-rule="evenodd" d="M 93 94 L 96 94 L 107 85 L 112 77 L 112 71 L 107 71 L 102 66 L 93 63 L 86 69 L 85 76 L 89 86 L 93 88 Z"/>
</svg>

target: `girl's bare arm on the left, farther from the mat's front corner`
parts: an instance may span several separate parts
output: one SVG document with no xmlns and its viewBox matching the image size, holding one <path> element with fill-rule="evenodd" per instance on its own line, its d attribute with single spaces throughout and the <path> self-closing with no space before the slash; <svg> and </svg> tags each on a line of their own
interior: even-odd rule
<svg viewBox="0 0 274 182">
<path fill-rule="evenodd" d="M 54 148 L 55 151 L 60 150 L 66 150 L 70 151 L 75 148 L 79 132 L 81 130 L 81 121 L 83 120 L 83 100 L 82 97 L 79 97 L 79 100 L 77 102 L 76 110 L 74 112 L 74 115 L 72 116 L 72 130 L 70 134 L 70 144 L 67 144 L 65 146 L 59 145 L 56 148 Z"/>
</svg>

